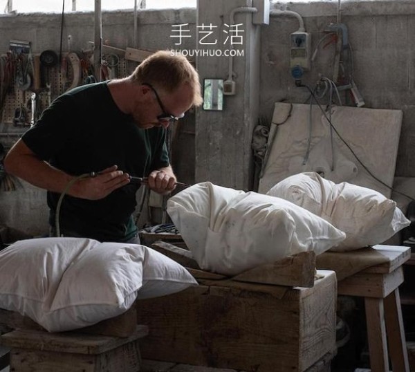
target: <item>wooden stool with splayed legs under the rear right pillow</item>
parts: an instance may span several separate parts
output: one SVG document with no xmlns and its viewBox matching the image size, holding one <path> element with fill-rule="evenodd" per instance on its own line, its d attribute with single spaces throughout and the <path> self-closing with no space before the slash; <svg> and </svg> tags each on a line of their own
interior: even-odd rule
<svg viewBox="0 0 415 372">
<path fill-rule="evenodd" d="M 338 294 L 365 297 L 371 372 L 389 372 L 387 342 L 392 371 L 409 372 L 398 287 L 403 283 L 402 265 L 411 256 L 411 248 L 374 248 L 389 261 L 339 281 Z"/>
</svg>

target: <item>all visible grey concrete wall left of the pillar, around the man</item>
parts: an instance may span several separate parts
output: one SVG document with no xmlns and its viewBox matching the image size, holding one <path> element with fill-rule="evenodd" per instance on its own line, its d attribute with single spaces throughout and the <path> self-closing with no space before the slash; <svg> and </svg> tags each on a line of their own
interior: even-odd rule
<svg viewBox="0 0 415 372">
<path fill-rule="evenodd" d="M 0 16 L 0 53 L 6 53 L 10 40 L 30 41 L 33 53 L 51 49 L 59 53 L 61 15 L 3 15 Z M 172 24 L 188 23 L 194 29 L 196 11 L 194 9 L 141 11 L 138 15 L 137 47 L 149 50 L 167 49 L 174 44 Z M 117 48 L 135 47 L 133 35 L 133 12 L 103 12 L 102 39 L 104 43 Z M 94 16 L 91 12 L 78 12 L 64 15 L 63 51 L 68 50 L 68 35 L 71 35 L 71 49 L 81 51 L 91 48 L 94 40 Z M 196 38 L 183 39 L 182 48 L 194 49 Z M 136 62 L 128 63 L 132 71 Z M 181 120 L 180 131 L 174 135 L 172 162 L 182 182 L 194 182 L 194 112 Z M 19 127 L 0 123 L 0 140 L 10 147 L 17 139 Z M 4 133 L 12 133 L 6 136 Z M 178 152 L 178 148 L 183 151 Z M 15 227 L 33 235 L 48 233 L 48 211 L 46 192 L 27 183 L 15 182 L 15 191 L 0 189 L 0 223 Z M 147 208 L 146 208 L 147 210 Z M 143 219 L 142 223 L 146 223 Z"/>
</svg>

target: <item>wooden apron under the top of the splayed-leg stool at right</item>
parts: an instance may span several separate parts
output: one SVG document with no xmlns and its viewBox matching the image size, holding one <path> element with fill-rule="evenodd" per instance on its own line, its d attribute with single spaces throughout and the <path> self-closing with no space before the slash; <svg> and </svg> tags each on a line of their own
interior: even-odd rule
<svg viewBox="0 0 415 372">
<path fill-rule="evenodd" d="M 402 267 L 389 274 L 358 272 L 339 281 L 339 295 L 385 298 L 403 283 Z"/>
</svg>

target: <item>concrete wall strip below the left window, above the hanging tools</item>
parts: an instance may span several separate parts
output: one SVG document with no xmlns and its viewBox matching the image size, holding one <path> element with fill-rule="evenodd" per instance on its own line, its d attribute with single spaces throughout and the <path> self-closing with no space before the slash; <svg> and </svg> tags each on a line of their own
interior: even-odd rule
<svg viewBox="0 0 415 372">
<path fill-rule="evenodd" d="M 44 15 L 0 15 L 0 51 L 8 48 L 10 39 L 31 41 L 34 53 L 45 49 L 59 52 L 61 20 L 59 14 Z M 102 39 L 117 48 L 133 48 L 133 12 L 102 12 Z M 166 49 L 172 46 L 172 24 L 196 22 L 194 9 L 141 10 L 138 13 L 138 46 L 143 49 Z M 66 51 L 67 37 L 72 36 L 72 49 L 91 48 L 94 40 L 94 16 L 92 12 L 75 12 L 64 15 L 63 48 Z M 183 45 L 194 48 L 194 37 L 183 39 Z"/>
</svg>

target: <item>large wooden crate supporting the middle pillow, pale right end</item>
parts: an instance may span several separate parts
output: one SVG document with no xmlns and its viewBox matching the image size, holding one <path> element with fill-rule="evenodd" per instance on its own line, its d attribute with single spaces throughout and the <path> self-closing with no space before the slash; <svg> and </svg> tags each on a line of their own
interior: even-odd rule
<svg viewBox="0 0 415 372">
<path fill-rule="evenodd" d="M 302 372 L 335 348 L 333 271 L 312 288 L 205 281 L 137 302 L 150 360 L 256 372 Z"/>
</svg>

